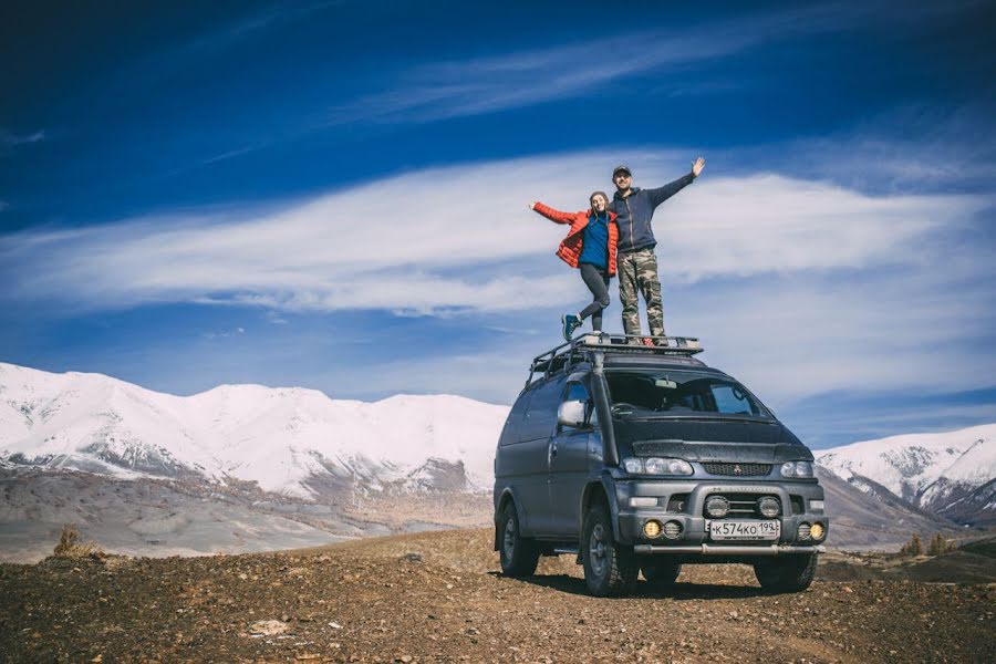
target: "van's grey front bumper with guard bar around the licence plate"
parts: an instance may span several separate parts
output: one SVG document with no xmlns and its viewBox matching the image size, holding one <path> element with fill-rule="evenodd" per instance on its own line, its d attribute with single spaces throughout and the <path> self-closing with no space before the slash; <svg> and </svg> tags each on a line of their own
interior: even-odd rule
<svg viewBox="0 0 996 664">
<path fill-rule="evenodd" d="M 714 494 L 747 494 L 756 496 L 777 496 L 781 502 L 781 533 L 777 541 L 713 541 L 709 537 L 709 521 L 704 516 L 707 497 Z M 629 507 L 630 498 L 657 497 L 654 508 Z M 673 496 L 683 496 L 679 511 L 668 511 L 667 506 Z M 811 510 L 810 500 L 822 500 L 823 489 L 816 483 L 703 483 L 691 481 L 653 481 L 630 480 L 616 484 L 616 505 L 619 506 L 619 540 L 633 546 L 636 553 L 681 553 L 688 556 L 781 556 L 791 553 L 818 553 L 824 550 L 822 543 L 827 539 L 830 519 L 821 510 Z M 801 506 L 801 510 L 799 509 Z M 751 517 L 760 519 L 761 517 Z M 661 523 L 677 521 L 682 533 L 676 539 L 667 539 L 663 535 L 649 538 L 643 527 L 646 521 L 657 520 Z M 799 539 L 799 526 L 819 523 L 823 527 L 820 540 Z"/>
</svg>

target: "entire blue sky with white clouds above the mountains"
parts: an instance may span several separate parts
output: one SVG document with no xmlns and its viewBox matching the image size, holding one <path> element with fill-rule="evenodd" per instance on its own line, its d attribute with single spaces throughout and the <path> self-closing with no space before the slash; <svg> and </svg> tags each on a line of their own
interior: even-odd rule
<svg viewBox="0 0 996 664">
<path fill-rule="evenodd" d="M 0 361 L 507 404 L 588 299 L 526 204 L 701 154 L 670 333 L 815 447 L 996 421 L 992 3 L 20 4 Z"/>
</svg>

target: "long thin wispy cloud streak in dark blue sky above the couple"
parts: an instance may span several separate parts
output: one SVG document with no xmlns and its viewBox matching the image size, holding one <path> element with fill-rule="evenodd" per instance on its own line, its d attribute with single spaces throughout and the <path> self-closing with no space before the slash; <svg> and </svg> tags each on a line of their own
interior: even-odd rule
<svg viewBox="0 0 996 664">
<path fill-rule="evenodd" d="M 809 4 L 737 20 L 713 21 L 681 31 L 635 31 L 510 55 L 470 58 L 414 66 L 380 90 L 334 106 L 328 124 L 424 123 L 574 98 L 612 82 L 654 74 L 655 90 L 702 94 L 743 85 L 710 81 L 667 86 L 661 75 L 682 73 L 772 40 L 809 38 L 924 14 L 958 11 L 965 3 L 896 8 L 888 2 Z"/>
</svg>

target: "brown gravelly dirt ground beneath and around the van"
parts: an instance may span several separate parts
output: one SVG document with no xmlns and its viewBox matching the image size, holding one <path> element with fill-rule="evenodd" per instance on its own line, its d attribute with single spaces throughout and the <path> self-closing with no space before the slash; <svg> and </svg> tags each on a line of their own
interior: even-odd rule
<svg viewBox="0 0 996 664">
<path fill-rule="evenodd" d="M 996 662 L 994 584 L 768 595 L 747 567 L 699 566 L 595 599 L 566 556 L 502 578 L 489 538 L 0 566 L 0 661 Z"/>
</svg>

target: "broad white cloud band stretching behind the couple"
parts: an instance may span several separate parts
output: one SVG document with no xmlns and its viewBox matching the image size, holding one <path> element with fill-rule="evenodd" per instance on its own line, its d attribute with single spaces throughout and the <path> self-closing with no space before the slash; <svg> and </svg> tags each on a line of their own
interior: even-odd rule
<svg viewBox="0 0 996 664">
<path fill-rule="evenodd" d="M 679 175 L 673 156 L 626 155 L 636 179 Z M 606 188 L 611 153 L 437 168 L 311 200 L 0 238 L 8 297 L 83 309 L 146 302 L 266 309 L 509 311 L 571 297 L 553 257 L 564 209 Z M 708 166 L 707 166 L 708 168 Z M 925 266 L 981 196 L 873 197 L 759 174 L 703 178 L 658 210 L 668 281 Z"/>
</svg>

